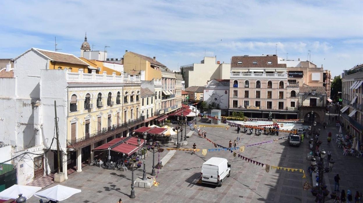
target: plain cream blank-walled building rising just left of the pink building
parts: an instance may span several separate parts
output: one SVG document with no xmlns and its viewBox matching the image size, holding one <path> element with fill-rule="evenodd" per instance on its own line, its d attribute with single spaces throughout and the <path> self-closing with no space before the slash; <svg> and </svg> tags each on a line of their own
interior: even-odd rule
<svg viewBox="0 0 363 203">
<path fill-rule="evenodd" d="M 191 86 L 204 86 L 212 79 L 228 80 L 231 64 L 225 64 L 216 60 L 216 57 L 204 57 L 200 64 L 180 66 L 185 80 L 185 88 Z"/>
</svg>

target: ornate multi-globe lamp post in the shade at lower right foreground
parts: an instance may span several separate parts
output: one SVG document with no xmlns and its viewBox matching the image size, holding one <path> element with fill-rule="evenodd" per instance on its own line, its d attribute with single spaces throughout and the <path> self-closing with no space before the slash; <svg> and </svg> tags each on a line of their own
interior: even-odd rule
<svg viewBox="0 0 363 203">
<path fill-rule="evenodd" d="M 321 198 L 322 202 L 325 202 L 325 196 L 328 195 L 324 195 L 323 194 L 323 174 L 327 173 L 327 172 L 331 172 L 333 170 L 333 166 L 334 166 L 334 161 L 329 161 L 329 167 L 325 166 L 324 163 L 324 158 L 326 156 L 326 152 L 325 150 L 323 150 L 320 154 L 320 162 L 316 163 L 316 159 L 315 157 L 311 157 L 311 166 L 312 167 L 312 171 L 317 172 L 319 174 L 319 182 L 318 182 L 318 187 L 319 187 L 319 199 Z"/>
</svg>

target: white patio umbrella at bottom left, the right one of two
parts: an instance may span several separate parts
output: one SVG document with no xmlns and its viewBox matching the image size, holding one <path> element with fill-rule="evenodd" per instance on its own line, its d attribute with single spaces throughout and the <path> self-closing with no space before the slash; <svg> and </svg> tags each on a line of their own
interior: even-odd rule
<svg viewBox="0 0 363 203">
<path fill-rule="evenodd" d="M 62 201 L 68 199 L 70 196 L 74 194 L 77 194 L 78 192 L 81 192 L 81 190 L 62 185 L 56 185 L 46 190 L 37 192 L 34 195 L 37 196 L 38 198 L 50 199 L 53 201 Z"/>
</svg>

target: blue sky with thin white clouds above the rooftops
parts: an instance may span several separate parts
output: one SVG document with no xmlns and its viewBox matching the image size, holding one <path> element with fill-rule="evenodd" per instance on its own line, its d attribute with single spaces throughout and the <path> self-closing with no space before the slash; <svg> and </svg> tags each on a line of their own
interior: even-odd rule
<svg viewBox="0 0 363 203">
<path fill-rule="evenodd" d="M 0 58 L 31 47 L 79 56 L 87 32 L 109 58 L 125 50 L 171 69 L 204 56 L 274 54 L 338 75 L 363 63 L 363 1 L 0 1 Z M 286 54 L 288 53 L 288 54 Z"/>
</svg>

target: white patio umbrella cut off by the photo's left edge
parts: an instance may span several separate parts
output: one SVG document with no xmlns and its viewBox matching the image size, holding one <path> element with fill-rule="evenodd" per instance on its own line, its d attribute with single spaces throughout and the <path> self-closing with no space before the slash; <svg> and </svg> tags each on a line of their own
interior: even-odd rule
<svg viewBox="0 0 363 203">
<path fill-rule="evenodd" d="M 0 199 L 16 199 L 19 197 L 19 194 L 23 194 L 26 199 L 29 199 L 38 190 L 41 190 L 41 187 L 15 184 L 6 190 L 1 191 Z"/>
</svg>

